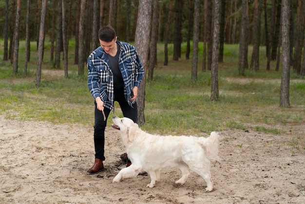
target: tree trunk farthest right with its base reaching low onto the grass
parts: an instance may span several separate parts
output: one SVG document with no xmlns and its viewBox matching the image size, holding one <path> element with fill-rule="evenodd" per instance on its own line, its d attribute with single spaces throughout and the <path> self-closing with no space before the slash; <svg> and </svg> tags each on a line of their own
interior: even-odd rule
<svg viewBox="0 0 305 204">
<path fill-rule="evenodd" d="M 280 107 L 290 107 L 289 102 L 289 78 L 290 78 L 290 42 L 289 42 L 289 0 L 282 0 L 282 77 L 280 92 Z"/>
</svg>

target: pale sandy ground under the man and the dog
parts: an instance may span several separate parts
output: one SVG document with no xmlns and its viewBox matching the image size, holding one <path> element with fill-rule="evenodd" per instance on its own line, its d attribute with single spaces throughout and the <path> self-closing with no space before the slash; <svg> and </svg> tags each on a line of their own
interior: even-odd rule
<svg viewBox="0 0 305 204">
<path fill-rule="evenodd" d="M 149 176 L 120 183 L 125 167 L 120 134 L 106 129 L 105 170 L 94 162 L 93 128 L 49 122 L 6 120 L 0 115 L 0 203 L 3 204 L 304 204 L 305 123 L 272 135 L 252 130 L 220 132 L 221 162 L 211 164 L 214 190 L 195 173 L 175 185 L 180 171 L 161 169 L 153 188 Z M 209 133 L 207 133 L 208 135 Z M 204 135 L 204 136 L 207 136 Z"/>
</svg>

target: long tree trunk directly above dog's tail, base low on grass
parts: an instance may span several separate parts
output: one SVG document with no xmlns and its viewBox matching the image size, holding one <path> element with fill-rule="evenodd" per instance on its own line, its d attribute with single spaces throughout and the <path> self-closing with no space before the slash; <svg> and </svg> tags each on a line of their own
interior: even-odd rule
<svg viewBox="0 0 305 204">
<path fill-rule="evenodd" d="M 213 51 L 212 51 L 212 65 L 211 65 L 211 101 L 217 101 L 219 98 L 218 88 L 218 44 L 219 44 L 219 21 L 220 21 L 220 1 L 214 2 L 214 26 L 213 26 Z"/>
</svg>

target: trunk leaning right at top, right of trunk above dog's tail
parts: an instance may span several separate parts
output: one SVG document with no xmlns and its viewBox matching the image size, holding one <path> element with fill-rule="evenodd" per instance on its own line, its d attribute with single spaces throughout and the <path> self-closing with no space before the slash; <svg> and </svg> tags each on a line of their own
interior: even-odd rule
<svg viewBox="0 0 305 204">
<path fill-rule="evenodd" d="M 242 5 L 242 19 L 241 19 L 241 29 L 239 37 L 239 59 L 238 59 L 238 70 L 239 75 L 245 75 L 245 69 L 247 68 L 247 55 L 248 50 L 248 38 L 247 38 L 247 27 L 248 27 L 248 0 L 243 0 Z"/>
</svg>

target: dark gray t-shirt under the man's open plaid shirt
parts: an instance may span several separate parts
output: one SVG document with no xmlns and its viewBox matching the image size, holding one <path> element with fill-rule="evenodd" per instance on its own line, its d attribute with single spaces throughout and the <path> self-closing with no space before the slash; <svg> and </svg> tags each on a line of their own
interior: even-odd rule
<svg viewBox="0 0 305 204">
<path fill-rule="evenodd" d="M 120 68 L 118 67 L 118 56 L 120 55 L 120 45 L 116 42 L 117 45 L 117 52 L 116 55 L 113 57 L 107 54 L 111 71 L 114 75 L 114 89 L 122 88 L 124 86 L 124 81 L 122 77 L 122 73 Z"/>
</svg>

